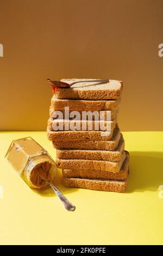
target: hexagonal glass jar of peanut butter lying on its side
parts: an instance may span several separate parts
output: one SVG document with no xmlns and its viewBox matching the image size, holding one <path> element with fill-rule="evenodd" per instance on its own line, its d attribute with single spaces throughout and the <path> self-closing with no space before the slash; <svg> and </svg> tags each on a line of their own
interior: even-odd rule
<svg viewBox="0 0 163 256">
<path fill-rule="evenodd" d="M 33 188 L 48 186 L 57 173 L 52 157 L 31 137 L 12 141 L 5 157 L 17 174 Z"/>
</svg>

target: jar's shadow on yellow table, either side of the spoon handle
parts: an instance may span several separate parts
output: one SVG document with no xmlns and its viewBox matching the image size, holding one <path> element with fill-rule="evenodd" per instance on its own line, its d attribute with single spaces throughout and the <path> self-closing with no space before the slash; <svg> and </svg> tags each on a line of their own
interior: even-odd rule
<svg viewBox="0 0 163 256">
<path fill-rule="evenodd" d="M 60 190 L 60 192 L 62 192 L 64 194 L 69 194 L 69 193 L 72 193 L 72 192 L 76 192 L 78 190 L 78 188 L 68 188 L 68 187 L 65 187 L 62 184 L 61 169 L 57 169 L 57 175 L 56 175 L 55 179 L 53 180 L 53 184 L 54 184 L 54 186 L 56 186 L 58 188 L 58 190 Z M 33 189 L 33 191 L 40 194 L 40 196 L 43 196 L 43 197 L 54 197 L 54 196 L 56 196 L 54 191 L 52 190 L 52 188 L 50 186 L 45 187 L 45 188 L 41 188 L 39 190 Z"/>
</svg>

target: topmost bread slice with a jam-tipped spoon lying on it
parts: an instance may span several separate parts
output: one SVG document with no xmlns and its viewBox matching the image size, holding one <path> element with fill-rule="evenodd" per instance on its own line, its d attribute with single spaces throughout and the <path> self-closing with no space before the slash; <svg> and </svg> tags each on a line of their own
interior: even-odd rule
<svg viewBox="0 0 163 256">
<path fill-rule="evenodd" d="M 73 83 L 92 79 L 62 79 L 62 82 Z M 109 100 L 118 99 L 122 92 L 122 82 L 109 80 L 108 83 L 83 82 L 73 84 L 70 88 L 58 88 L 57 99 Z"/>
</svg>

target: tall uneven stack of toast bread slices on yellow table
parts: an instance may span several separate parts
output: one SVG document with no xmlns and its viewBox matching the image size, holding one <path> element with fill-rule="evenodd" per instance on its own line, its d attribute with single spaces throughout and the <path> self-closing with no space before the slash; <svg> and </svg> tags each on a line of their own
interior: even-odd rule
<svg viewBox="0 0 163 256">
<path fill-rule="evenodd" d="M 83 79 L 61 81 L 72 83 Z M 124 139 L 117 124 L 122 82 L 84 81 L 70 88 L 58 88 L 51 101 L 47 134 L 57 149 L 56 163 L 62 169 L 63 184 L 66 187 L 124 192 L 128 181 L 129 153 L 124 150 Z M 87 119 L 85 114 L 88 111 L 99 116 L 102 113 L 102 120 L 97 120 L 95 115 L 92 115 L 92 120 Z M 105 126 L 101 128 L 102 122 Z"/>
</svg>

